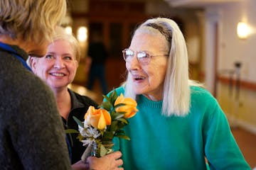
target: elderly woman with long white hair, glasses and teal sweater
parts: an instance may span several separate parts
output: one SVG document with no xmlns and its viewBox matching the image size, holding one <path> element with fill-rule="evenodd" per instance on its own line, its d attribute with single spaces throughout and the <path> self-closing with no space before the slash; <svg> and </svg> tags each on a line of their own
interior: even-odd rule
<svg viewBox="0 0 256 170">
<path fill-rule="evenodd" d="M 115 141 L 124 169 L 250 169 L 218 102 L 188 79 L 174 21 L 145 21 L 122 52 L 128 75 L 117 94 L 135 98 L 139 110 L 124 128 L 131 140 Z"/>
</svg>

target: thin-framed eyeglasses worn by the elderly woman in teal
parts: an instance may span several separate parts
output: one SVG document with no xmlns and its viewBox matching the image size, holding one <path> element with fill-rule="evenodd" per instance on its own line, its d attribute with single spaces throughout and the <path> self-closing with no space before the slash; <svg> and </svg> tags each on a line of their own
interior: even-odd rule
<svg viewBox="0 0 256 170">
<path fill-rule="evenodd" d="M 122 50 L 123 57 L 125 62 L 130 62 L 132 60 L 132 57 L 134 57 L 135 52 L 129 48 L 126 48 Z M 151 57 L 157 57 L 157 56 L 169 56 L 169 55 L 150 55 L 149 52 L 146 51 L 139 51 L 137 52 L 137 60 L 140 64 L 149 64 Z"/>
</svg>

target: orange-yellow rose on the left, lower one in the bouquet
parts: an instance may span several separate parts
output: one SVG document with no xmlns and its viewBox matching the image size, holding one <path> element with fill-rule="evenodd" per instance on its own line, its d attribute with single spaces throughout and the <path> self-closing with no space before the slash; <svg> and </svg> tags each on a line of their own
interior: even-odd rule
<svg viewBox="0 0 256 170">
<path fill-rule="evenodd" d="M 110 114 L 102 108 L 95 109 L 95 107 L 90 106 L 85 113 L 85 121 L 89 118 L 90 125 L 99 130 L 104 130 L 107 125 L 111 125 Z"/>
</svg>

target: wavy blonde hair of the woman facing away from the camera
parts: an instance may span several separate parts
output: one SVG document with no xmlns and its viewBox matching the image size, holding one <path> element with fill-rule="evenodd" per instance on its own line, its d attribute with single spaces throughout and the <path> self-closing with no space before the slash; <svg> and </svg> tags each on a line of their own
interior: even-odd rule
<svg viewBox="0 0 256 170">
<path fill-rule="evenodd" d="M 0 35 L 38 44 L 50 42 L 66 10 L 65 0 L 1 0 Z"/>
</svg>

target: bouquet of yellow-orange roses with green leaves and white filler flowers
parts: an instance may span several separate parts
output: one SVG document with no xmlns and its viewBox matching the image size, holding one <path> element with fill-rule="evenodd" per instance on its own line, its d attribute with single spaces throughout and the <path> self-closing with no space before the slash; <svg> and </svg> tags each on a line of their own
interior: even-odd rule
<svg viewBox="0 0 256 170">
<path fill-rule="evenodd" d="M 73 117 L 78 123 L 78 139 L 87 147 L 82 155 L 83 161 L 90 155 L 103 157 L 112 152 L 114 137 L 130 140 L 122 128 L 129 124 L 127 119 L 137 113 L 137 102 L 124 98 L 122 94 L 117 96 L 116 91 L 112 91 L 109 97 L 103 97 L 105 101 L 99 108 L 88 108 L 84 122 Z"/>
</svg>

